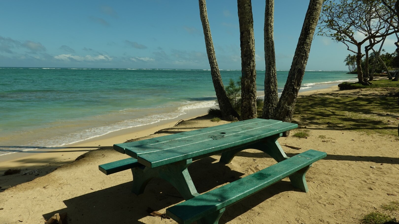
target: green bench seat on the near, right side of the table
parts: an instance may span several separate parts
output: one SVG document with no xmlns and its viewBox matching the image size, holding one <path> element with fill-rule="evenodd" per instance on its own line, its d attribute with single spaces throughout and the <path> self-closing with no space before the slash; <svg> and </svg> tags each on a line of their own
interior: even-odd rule
<svg viewBox="0 0 399 224">
<path fill-rule="evenodd" d="M 274 183 L 326 157 L 326 153 L 308 150 L 237 181 L 204 193 L 166 209 L 180 224 L 189 224 L 273 185 Z M 220 217 L 220 215 L 219 215 Z"/>
</svg>

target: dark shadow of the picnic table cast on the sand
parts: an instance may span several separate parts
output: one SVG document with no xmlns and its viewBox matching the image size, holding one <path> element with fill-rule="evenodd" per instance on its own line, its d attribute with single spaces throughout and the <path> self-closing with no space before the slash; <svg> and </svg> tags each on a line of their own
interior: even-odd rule
<svg viewBox="0 0 399 224">
<path fill-rule="evenodd" d="M 243 175 L 215 161 L 207 157 L 190 165 L 189 171 L 198 193 L 204 193 L 223 183 L 233 182 Z M 138 196 L 130 191 L 131 187 L 132 182 L 128 182 L 64 200 L 66 208 L 43 214 L 43 217 L 48 219 L 55 213 L 67 212 L 71 223 L 142 224 L 143 222 L 139 220 L 150 216 L 146 211 L 148 208 L 160 211 L 184 200 L 172 185 L 162 179 L 152 179 L 144 193 Z M 284 191 L 299 190 L 294 189 L 289 181 L 280 181 L 267 190 L 230 206 L 219 223 L 227 223 L 271 196 Z M 160 221 L 160 217 L 149 218 L 154 222 Z"/>
</svg>

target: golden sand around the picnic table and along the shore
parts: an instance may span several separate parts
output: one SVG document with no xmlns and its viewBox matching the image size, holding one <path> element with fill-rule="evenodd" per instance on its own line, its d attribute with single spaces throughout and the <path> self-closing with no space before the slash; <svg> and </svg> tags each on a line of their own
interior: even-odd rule
<svg viewBox="0 0 399 224">
<path fill-rule="evenodd" d="M 337 88 L 316 91 L 302 94 L 337 91 Z M 3 161 L 1 170 L 20 167 L 23 171 L 38 169 L 40 173 L 38 176 L 14 174 L 1 177 L 3 189 L 6 185 L 21 184 L 0 193 L 0 209 L 3 208 L 0 223 L 44 223 L 45 218 L 58 212 L 67 212 L 70 223 L 176 223 L 150 216 L 146 211 L 149 207 L 163 213 L 166 208 L 181 202 L 183 198 L 172 185 L 162 179 L 153 179 L 144 194 L 137 196 L 130 192 L 130 170 L 107 176 L 98 170 L 98 165 L 126 158 L 112 149 L 114 143 L 227 123 L 210 122 L 209 116 L 188 118 L 175 127 L 175 121 L 166 122 L 149 130 L 127 130 L 122 136 L 114 133 L 109 138 L 69 146 L 72 148 Z M 148 136 L 160 129 L 163 130 Z M 310 134 L 307 139 L 291 135 L 280 138 L 279 142 L 288 156 L 307 149 L 328 153 L 307 173 L 309 192 L 294 189 L 286 178 L 228 207 L 219 223 L 359 223 L 364 214 L 375 211 L 381 204 L 399 200 L 399 141 L 396 138 L 319 126 L 307 126 L 306 129 Z M 98 147 L 101 148 L 96 149 Z M 228 165 L 218 164 L 218 158 L 215 155 L 190 165 L 189 171 L 199 193 L 275 163 L 254 149 L 239 153 Z"/>
</svg>

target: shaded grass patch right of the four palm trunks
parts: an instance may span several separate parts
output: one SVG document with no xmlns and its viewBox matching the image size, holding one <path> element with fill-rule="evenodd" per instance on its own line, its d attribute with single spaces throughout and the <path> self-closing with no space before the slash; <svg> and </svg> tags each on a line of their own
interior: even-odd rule
<svg viewBox="0 0 399 224">
<path fill-rule="evenodd" d="M 293 122 L 397 137 L 399 107 L 394 93 L 399 92 L 399 82 L 373 83 L 373 87 L 363 90 L 300 96 Z"/>
</svg>

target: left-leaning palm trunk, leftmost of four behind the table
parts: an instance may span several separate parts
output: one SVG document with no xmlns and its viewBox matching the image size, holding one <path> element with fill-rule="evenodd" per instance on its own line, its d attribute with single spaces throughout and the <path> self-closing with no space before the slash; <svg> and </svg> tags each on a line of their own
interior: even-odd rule
<svg viewBox="0 0 399 224">
<path fill-rule="evenodd" d="M 201 17 L 203 35 L 205 37 L 206 53 L 208 55 L 209 65 L 211 67 L 211 76 L 213 87 L 215 88 L 217 102 L 219 102 L 219 108 L 222 113 L 222 118 L 224 120 L 234 120 L 238 118 L 239 115 L 231 106 L 229 98 L 227 98 L 225 88 L 220 76 L 219 67 L 216 61 L 215 49 L 213 47 L 213 41 L 211 36 L 211 29 L 208 22 L 208 14 L 206 11 L 205 0 L 198 0 L 199 2 L 199 16 Z"/>
</svg>

